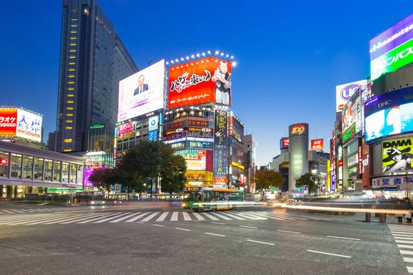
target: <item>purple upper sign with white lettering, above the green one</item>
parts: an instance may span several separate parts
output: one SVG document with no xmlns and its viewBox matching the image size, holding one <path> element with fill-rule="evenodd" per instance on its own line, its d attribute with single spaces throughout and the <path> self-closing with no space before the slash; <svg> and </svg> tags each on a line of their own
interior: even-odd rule
<svg viewBox="0 0 413 275">
<path fill-rule="evenodd" d="M 413 14 L 370 40 L 370 61 L 413 39 Z"/>
</svg>

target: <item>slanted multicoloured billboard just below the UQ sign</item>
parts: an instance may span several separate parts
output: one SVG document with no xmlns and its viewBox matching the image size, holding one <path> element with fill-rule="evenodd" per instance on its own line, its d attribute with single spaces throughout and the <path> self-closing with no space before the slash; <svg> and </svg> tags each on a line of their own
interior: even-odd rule
<svg viewBox="0 0 413 275">
<path fill-rule="evenodd" d="M 342 114 L 343 131 L 346 131 L 353 124 L 356 133 L 361 131 L 361 98 L 360 93 L 356 92 L 344 105 Z"/>
</svg>

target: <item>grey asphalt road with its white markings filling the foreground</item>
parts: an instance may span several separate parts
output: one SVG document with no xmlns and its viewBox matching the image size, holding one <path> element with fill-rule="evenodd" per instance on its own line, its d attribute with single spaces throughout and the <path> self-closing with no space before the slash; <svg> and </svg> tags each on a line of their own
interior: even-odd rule
<svg viewBox="0 0 413 275">
<path fill-rule="evenodd" d="M 409 274 L 406 230 L 265 207 L 6 213 L 0 274 Z"/>
</svg>

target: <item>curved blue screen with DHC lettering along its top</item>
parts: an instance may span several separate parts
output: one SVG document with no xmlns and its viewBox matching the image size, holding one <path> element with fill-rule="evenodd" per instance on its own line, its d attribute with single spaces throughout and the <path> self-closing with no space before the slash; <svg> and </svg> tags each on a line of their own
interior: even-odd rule
<svg viewBox="0 0 413 275">
<path fill-rule="evenodd" d="M 366 101 L 365 112 L 366 142 L 412 132 L 413 87 L 370 98 Z"/>
</svg>

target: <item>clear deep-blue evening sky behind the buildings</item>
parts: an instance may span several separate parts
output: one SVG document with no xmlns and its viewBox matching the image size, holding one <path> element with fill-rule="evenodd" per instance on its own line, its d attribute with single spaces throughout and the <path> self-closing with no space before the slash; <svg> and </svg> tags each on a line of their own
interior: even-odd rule
<svg viewBox="0 0 413 275">
<path fill-rule="evenodd" d="M 367 78 L 369 40 L 412 12 L 383 0 L 98 3 L 140 68 L 208 50 L 235 56 L 232 110 L 255 137 L 258 166 L 296 122 L 310 124 L 310 139 L 324 138 L 329 151 L 335 86 Z M 0 106 L 42 113 L 45 142 L 56 124 L 61 6 L 1 6 Z"/>
</svg>

